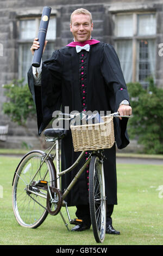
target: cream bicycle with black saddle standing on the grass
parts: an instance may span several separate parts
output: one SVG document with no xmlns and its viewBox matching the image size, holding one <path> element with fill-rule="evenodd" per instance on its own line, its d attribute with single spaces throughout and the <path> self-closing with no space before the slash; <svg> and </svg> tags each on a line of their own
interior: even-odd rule
<svg viewBox="0 0 163 256">
<path fill-rule="evenodd" d="M 118 112 L 116 112 L 114 114 L 105 116 L 105 118 L 111 118 L 110 120 L 112 120 L 113 117 L 118 116 L 120 115 Z M 76 117 L 76 115 L 71 115 L 71 118 L 74 117 Z M 64 206 L 66 207 L 68 221 L 70 224 L 82 223 L 82 219 L 71 219 L 65 197 L 73 188 L 86 166 L 90 164 L 89 204 L 91 224 L 96 242 L 103 242 L 106 225 L 106 196 L 103 168 L 105 156 L 103 148 L 91 149 L 89 156 L 85 160 L 82 168 L 79 169 L 76 176 L 65 189 L 64 193 L 61 193 L 60 177 L 67 174 L 67 172 L 71 171 L 80 163 L 86 150 L 82 150 L 78 159 L 72 164 L 72 166 L 61 171 L 59 141 L 66 136 L 66 130 L 46 129 L 44 131 L 44 135 L 46 141 L 54 142 L 48 153 L 40 150 L 28 152 L 21 159 L 14 173 L 12 181 L 12 206 L 16 221 L 22 227 L 37 228 L 43 223 L 43 221 L 45 221 L 48 213 L 53 216 L 60 213 L 66 228 L 69 230 L 68 224 L 61 213 L 61 207 Z M 114 138 L 112 140 L 112 145 L 113 144 Z M 55 154 L 52 154 L 51 152 L 54 147 Z M 76 151 L 81 151 L 81 149 Z M 56 169 L 53 162 L 55 157 Z"/>
</svg>

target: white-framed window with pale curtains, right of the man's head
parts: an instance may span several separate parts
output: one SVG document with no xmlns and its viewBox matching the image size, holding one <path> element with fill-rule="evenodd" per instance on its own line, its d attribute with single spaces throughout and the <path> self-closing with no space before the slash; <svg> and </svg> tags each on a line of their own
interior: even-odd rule
<svg viewBox="0 0 163 256">
<path fill-rule="evenodd" d="M 155 13 L 116 14 L 115 47 L 126 82 L 155 79 L 156 16 Z"/>
</svg>

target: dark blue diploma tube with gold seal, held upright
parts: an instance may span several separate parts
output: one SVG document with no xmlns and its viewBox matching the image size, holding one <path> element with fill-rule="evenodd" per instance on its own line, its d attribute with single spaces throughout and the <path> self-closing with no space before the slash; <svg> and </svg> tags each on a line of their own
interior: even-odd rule
<svg viewBox="0 0 163 256">
<path fill-rule="evenodd" d="M 39 34 L 38 34 L 38 41 L 40 43 L 40 47 L 37 50 L 35 50 L 33 62 L 32 62 L 32 66 L 36 67 L 36 68 L 40 67 L 40 62 L 41 62 L 41 58 L 42 58 L 43 47 L 45 44 L 46 33 L 47 33 L 47 28 L 48 28 L 48 23 L 49 23 L 49 17 L 51 15 L 51 10 L 52 10 L 51 7 L 48 7 L 48 6 L 43 7 L 41 21 L 40 21 L 40 27 L 39 27 Z"/>
</svg>

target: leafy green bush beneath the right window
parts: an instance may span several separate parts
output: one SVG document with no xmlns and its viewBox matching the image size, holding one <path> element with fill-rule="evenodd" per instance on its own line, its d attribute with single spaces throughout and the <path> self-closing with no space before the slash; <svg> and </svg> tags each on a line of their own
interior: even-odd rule
<svg viewBox="0 0 163 256">
<path fill-rule="evenodd" d="M 145 90 L 141 84 L 127 85 L 133 117 L 130 118 L 130 138 L 137 136 L 144 152 L 150 154 L 163 153 L 163 90 L 158 88 L 152 78 Z"/>
</svg>

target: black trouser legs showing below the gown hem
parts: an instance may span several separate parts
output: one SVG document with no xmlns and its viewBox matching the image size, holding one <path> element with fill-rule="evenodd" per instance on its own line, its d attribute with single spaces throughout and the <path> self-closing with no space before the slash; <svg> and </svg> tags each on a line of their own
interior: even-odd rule
<svg viewBox="0 0 163 256">
<path fill-rule="evenodd" d="M 91 227 L 91 216 L 90 216 L 90 206 L 89 205 L 76 205 L 77 211 L 76 216 L 79 219 L 83 219 L 83 222 L 87 227 Z M 114 210 L 114 205 L 106 205 L 106 226 L 112 225 L 112 212 Z"/>
</svg>

